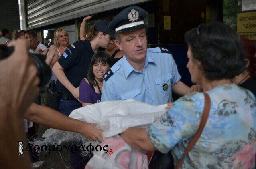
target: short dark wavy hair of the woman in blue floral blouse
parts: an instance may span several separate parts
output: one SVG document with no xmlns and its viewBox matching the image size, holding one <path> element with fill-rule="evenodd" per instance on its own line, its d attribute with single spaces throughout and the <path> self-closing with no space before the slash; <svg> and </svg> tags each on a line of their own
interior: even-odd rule
<svg viewBox="0 0 256 169">
<path fill-rule="evenodd" d="M 238 34 L 229 26 L 213 22 L 185 33 L 193 59 L 208 80 L 232 79 L 246 69 L 246 57 Z"/>
</svg>

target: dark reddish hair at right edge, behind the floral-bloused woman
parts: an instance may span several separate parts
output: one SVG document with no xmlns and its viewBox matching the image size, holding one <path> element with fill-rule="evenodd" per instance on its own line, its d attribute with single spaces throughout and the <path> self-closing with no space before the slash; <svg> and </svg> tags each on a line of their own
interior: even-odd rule
<svg viewBox="0 0 256 169">
<path fill-rule="evenodd" d="M 251 40 L 242 38 L 242 46 L 246 52 L 246 59 L 249 60 L 249 65 L 247 67 L 247 71 L 250 75 L 256 79 L 256 48 Z"/>
</svg>

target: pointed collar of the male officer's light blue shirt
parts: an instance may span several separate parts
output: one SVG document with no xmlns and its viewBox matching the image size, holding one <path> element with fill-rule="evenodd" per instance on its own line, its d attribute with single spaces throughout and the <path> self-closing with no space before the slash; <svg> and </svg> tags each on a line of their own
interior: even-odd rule
<svg viewBox="0 0 256 169">
<path fill-rule="evenodd" d="M 129 76 L 129 74 L 130 74 L 132 71 L 141 73 L 141 72 L 139 72 L 138 70 L 135 70 L 135 69 L 132 67 L 132 65 L 131 65 L 131 64 L 128 62 L 128 60 L 126 59 L 125 55 L 124 55 L 124 57 L 122 58 L 122 60 L 123 60 L 123 63 L 124 63 L 124 75 L 125 75 L 125 78 L 126 78 L 126 79 L 127 79 L 127 77 Z M 146 60 L 145 60 L 144 68 L 145 68 L 149 63 L 155 64 L 155 61 L 154 61 L 154 59 L 152 58 L 152 56 L 146 54 Z"/>
</svg>

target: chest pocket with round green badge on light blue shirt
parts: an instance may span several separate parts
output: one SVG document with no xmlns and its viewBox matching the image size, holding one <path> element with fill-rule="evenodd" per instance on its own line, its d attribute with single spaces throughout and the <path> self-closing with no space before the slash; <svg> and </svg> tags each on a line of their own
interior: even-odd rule
<svg viewBox="0 0 256 169">
<path fill-rule="evenodd" d="M 157 91 L 159 92 L 159 95 L 161 97 L 169 97 L 171 93 L 171 79 L 171 73 L 154 79 L 154 81 L 156 82 Z"/>
</svg>

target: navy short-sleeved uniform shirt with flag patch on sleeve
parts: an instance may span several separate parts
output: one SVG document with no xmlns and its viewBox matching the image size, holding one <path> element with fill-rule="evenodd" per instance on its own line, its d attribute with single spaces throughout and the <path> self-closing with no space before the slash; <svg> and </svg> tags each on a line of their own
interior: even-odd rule
<svg viewBox="0 0 256 169">
<path fill-rule="evenodd" d="M 85 40 L 69 45 L 59 58 L 59 64 L 64 69 L 67 79 L 74 87 L 79 87 L 81 80 L 86 78 L 93 54 L 90 41 Z M 72 95 L 59 80 L 56 82 L 56 87 Z"/>
</svg>

